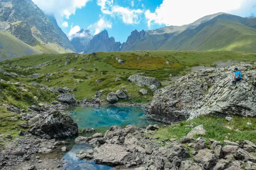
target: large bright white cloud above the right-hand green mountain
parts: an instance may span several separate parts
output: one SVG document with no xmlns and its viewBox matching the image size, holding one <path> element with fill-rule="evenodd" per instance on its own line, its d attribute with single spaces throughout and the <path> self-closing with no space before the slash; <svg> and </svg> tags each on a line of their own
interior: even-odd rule
<svg viewBox="0 0 256 170">
<path fill-rule="evenodd" d="M 205 15 L 229 13 L 241 7 L 244 0 L 163 0 L 154 13 L 145 12 L 148 27 L 151 24 L 184 25 Z"/>
</svg>

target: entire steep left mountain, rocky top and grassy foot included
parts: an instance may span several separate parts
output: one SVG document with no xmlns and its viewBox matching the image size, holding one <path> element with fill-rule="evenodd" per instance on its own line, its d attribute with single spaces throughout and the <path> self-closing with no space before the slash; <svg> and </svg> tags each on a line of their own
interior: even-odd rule
<svg viewBox="0 0 256 170">
<path fill-rule="evenodd" d="M 0 0 L 0 60 L 73 51 L 54 16 L 46 16 L 31 0 Z"/>
</svg>

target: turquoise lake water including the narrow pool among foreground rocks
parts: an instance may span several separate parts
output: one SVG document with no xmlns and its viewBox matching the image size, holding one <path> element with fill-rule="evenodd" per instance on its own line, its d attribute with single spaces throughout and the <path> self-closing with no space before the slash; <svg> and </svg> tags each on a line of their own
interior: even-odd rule
<svg viewBox="0 0 256 170">
<path fill-rule="evenodd" d="M 69 115 L 79 128 L 94 128 L 101 133 L 105 133 L 113 125 L 146 127 L 149 124 L 158 124 L 147 120 L 145 110 L 140 107 L 77 107 L 69 111 Z M 76 157 L 82 150 L 92 148 L 87 144 L 74 144 L 72 150 L 63 157 L 67 162 L 63 167 L 66 170 L 122 170 L 121 167 L 97 165 L 93 160 L 81 160 Z"/>
</svg>

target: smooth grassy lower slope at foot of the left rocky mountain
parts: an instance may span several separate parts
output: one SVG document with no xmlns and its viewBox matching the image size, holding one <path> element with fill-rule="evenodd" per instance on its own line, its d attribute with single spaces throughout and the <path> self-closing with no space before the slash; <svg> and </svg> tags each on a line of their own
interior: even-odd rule
<svg viewBox="0 0 256 170">
<path fill-rule="evenodd" d="M 40 50 L 31 47 L 8 32 L 0 31 L 0 61 L 13 56 L 41 54 Z"/>
</svg>

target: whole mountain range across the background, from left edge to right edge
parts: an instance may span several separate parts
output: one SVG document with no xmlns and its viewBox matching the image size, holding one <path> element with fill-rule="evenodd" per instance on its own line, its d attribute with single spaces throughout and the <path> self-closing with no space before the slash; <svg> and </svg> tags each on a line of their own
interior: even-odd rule
<svg viewBox="0 0 256 170">
<path fill-rule="evenodd" d="M 53 15 L 31 0 L 0 0 L 0 61 L 23 55 L 130 50 L 234 50 L 256 52 L 256 17 L 208 15 L 189 25 L 134 30 L 116 42 L 103 30 L 93 36 L 82 29 L 67 35 Z"/>
</svg>

